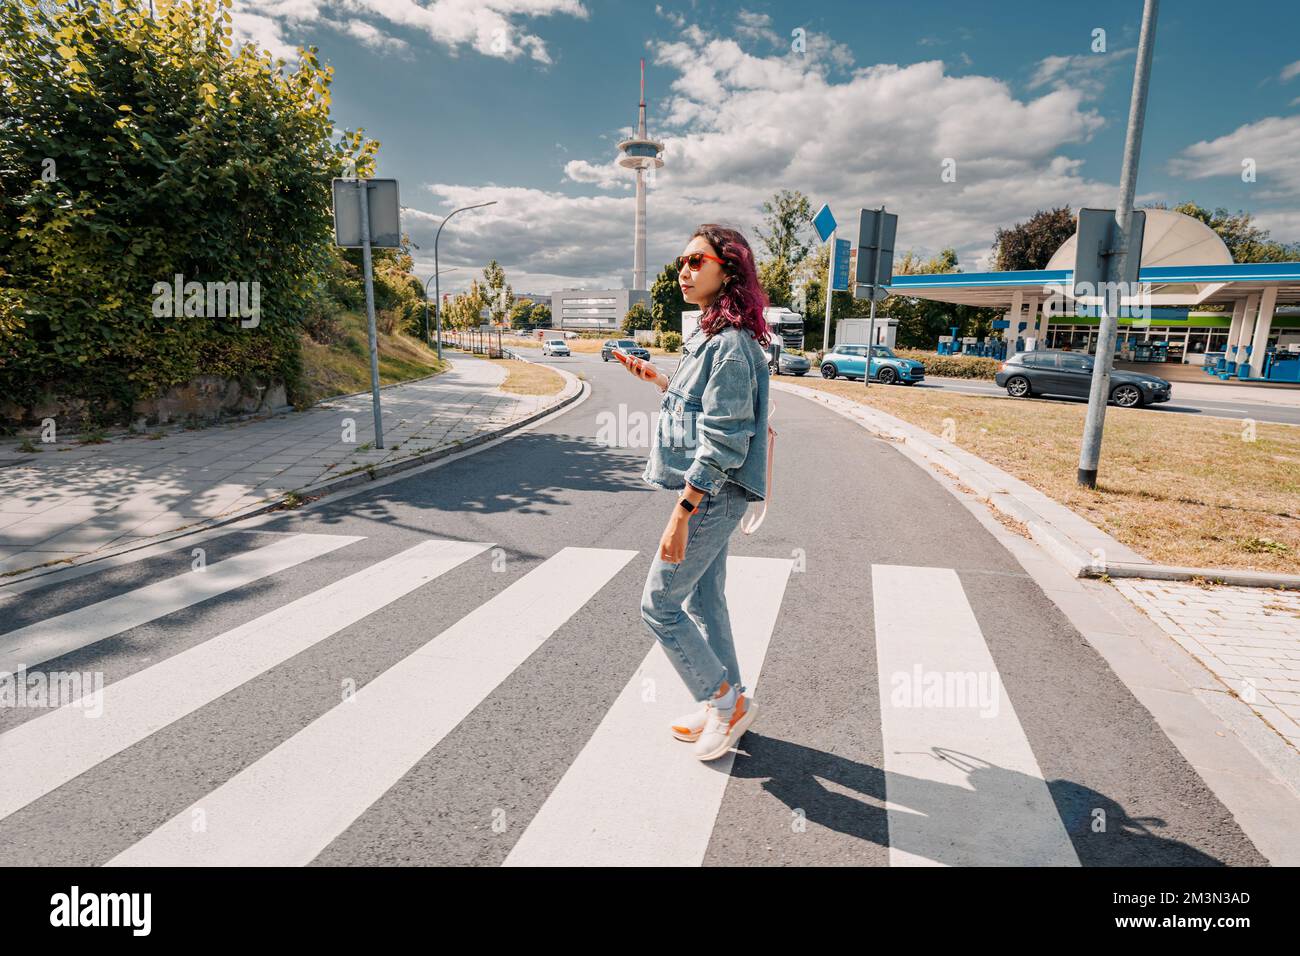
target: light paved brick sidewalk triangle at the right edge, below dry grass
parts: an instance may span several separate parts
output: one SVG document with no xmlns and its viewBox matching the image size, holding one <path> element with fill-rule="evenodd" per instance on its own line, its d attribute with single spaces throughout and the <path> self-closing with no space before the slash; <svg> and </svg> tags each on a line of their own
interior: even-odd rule
<svg viewBox="0 0 1300 956">
<path fill-rule="evenodd" d="M 1300 593 L 1112 583 L 1300 750 Z"/>
</svg>

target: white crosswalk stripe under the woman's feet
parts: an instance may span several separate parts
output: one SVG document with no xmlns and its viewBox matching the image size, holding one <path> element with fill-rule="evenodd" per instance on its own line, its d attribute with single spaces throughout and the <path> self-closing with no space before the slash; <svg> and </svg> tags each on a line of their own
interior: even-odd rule
<svg viewBox="0 0 1300 956">
<path fill-rule="evenodd" d="M 727 606 L 750 692 L 758 687 L 793 564 L 727 559 Z M 734 752 L 703 763 L 692 757 L 690 744 L 668 732 L 673 718 L 696 706 L 656 643 L 504 865 L 698 866 Z"/>
</svg>

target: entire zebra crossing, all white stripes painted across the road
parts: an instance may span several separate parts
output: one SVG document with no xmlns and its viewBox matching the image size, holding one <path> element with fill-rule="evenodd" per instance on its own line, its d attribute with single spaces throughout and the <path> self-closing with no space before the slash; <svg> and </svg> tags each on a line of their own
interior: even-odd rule
<svg viewBox="0 0 1300 956">
<path fill-rule="evenodd" d="M 238 596 L 240 588 L 313 558 L 346 554 L 359 540 L 294 535 L 214 562 L 203 574 L 181 574 L 0 631 L 0 661 L 12 665 L 0 670 L 34 667 L 178 610 L 202 610 L 214 596 Z M 441 578 L 486 559 L 493 546 L 422 541 L 109 683 L 96 719 L 66 704 L 0 732 L 0 765 L 8 769 L 0 775 L 0 823 L 64 787 L 77 787 L 78 778 L 104 761 L 326 637 L 421 589 L 438 588 Z M 638 557 L 645 558 L 636 550 L 560 548 L 269 752 L 198 800 L 172 808 L 161 825 L 96 862 L 311 864 Z M 732 627 L 754 692 L 774 641 L 788 640 L 777 620 L 793 572 L 788 558 L 728 559 Z M 1078 865 L 957 574 L 874 566 L 871 594 L 880 713 L 864 711 L 863 719 L 871 732 L 879 727 L 884 740 L 890 865 Z M 996 713 L 971 719 L 970 705 L 897 700 L 900 682 L 918 667 L 989 678 L 997 685 Z M 760 692 L 757 698 L 762 701 Z M 988 709 L 991 701 L 975 704 Z M 662 648 L 651 644 L 603 719 L 582 730 L 585 744 L 521 825 L 504 865 L 702 864 L 736 754 L 702 763 L 666 732 L 671 719 L 692 706 Z M 997 773 L 976 782 L 989 767 Z"/>
</svg>

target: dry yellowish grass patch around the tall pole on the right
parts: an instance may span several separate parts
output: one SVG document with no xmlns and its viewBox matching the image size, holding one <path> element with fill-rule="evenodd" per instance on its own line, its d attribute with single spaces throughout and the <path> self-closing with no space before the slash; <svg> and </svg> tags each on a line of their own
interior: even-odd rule
<svg viewBox="0 0 1300 956">
<path fill-rule="evenodd" d="M 862 382 L 800 382 L 866 401 L 956 444 L 1162 564 L 1300 574 L 1300 428 L 1106 411 L 1097 488 L 1075 481 L 1086 406 Z M 864 394 L 867 393 L 867 394 Z"/>
</svg>

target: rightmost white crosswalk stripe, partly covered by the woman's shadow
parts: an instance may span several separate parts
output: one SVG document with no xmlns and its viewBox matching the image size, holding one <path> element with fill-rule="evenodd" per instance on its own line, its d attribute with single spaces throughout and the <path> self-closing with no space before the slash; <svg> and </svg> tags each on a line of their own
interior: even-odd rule
<svg viewBox="0 0 1300 956">
<path fill-rule="evenodd" d="M 890 866 L 1078 866 L 957 572 L 871 591 Z"/>
</svg>

